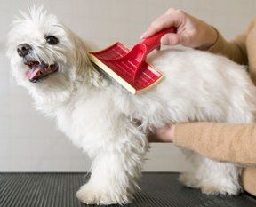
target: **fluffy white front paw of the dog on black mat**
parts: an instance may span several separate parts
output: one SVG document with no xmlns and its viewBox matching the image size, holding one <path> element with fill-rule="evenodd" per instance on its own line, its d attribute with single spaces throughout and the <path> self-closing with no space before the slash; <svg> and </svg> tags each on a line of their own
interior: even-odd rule
<svg viewBox="0 0 256 207">
<path fill-rule="evenodd" d="M 125 204 L 129 203 L 126 195 L 118 195 L 115 192 L 104 190 L 103 187 L 94 187 L 85 184 L 76 192 L 76 197 L 84 204 Z"/>
</svg>

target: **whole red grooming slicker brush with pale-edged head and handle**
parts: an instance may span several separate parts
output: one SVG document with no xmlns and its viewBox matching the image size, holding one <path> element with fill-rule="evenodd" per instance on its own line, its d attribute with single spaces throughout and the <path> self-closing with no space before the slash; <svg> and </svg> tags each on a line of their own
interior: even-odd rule
<svg viewBox="0 0 256 207">
<path fill-rule="evenodd" d="M 124 44 L 116 42 L 100 52 L 88 52 L 90 60 L 113 77 L 132 94 L 143 92 L 156 85 L 163 74 L 146 62 L 149 52 L 160 48 L 161 37 L 175 33 L 176 28 L 165 28 L 149 36 L 129 50 Z"/>
</svg>

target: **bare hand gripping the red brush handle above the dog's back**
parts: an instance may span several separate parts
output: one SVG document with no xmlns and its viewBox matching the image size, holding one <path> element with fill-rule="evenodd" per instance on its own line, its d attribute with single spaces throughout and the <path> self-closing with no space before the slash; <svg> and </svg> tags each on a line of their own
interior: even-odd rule
<svg viewBox="0 0 256 207">
<path fill-rule="evenodd" d="M 212 26 L 186 12 L 173 8 L 154 20 L 140 38 L 153 36 L 156 32 L 171 27 L 177 28 L 177 33 L 164 35 L 161 38 L 161 44 L 182 44 L 192 48 L 207 48 L 218 38 L 218 33 Z"/>
</svg>

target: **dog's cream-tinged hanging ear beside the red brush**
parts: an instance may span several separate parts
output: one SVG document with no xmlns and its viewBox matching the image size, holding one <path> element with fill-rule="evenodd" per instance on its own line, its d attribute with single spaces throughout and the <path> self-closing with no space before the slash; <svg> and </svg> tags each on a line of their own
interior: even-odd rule
<svg viewBox="0 0 256 207">
<path fill-rule="evenodd" d="M 102 76 L 100 76 L 99 72 L 93 68 L 92 62 L 88 58 L 87 48 L 84 41 L 71 31 L 70 34 L 74 43 L 75 50 L 74 58 L 76 62 L 76 77 L 84 78 L 95 86 L 102 85 Z"/>
</svg>

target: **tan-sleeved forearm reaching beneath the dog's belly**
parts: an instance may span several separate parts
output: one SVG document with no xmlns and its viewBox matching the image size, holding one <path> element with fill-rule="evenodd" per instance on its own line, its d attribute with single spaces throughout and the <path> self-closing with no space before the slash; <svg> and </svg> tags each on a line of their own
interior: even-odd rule
<svg viewBox="0 0 256 207">
<path fill-rule="evenodd" d="M 213 160 L 256 166 L 256 123 L 180 123 L 172 141 Z"/>
</svg>

